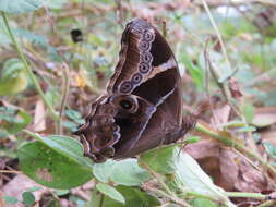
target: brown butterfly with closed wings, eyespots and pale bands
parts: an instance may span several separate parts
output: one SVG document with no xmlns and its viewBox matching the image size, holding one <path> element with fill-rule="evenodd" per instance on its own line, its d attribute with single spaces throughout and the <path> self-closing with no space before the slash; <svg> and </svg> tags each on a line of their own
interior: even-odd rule
<svg viewBox="0 0 276 207">
<path fill-rule="evenodd" d="M 141 19 L 127 24 L 107 93 L 75 133 L 95 162 L 177 142 L 195 124 L 182 115 L 180 74 L 160 33 Z"/>
</svg>

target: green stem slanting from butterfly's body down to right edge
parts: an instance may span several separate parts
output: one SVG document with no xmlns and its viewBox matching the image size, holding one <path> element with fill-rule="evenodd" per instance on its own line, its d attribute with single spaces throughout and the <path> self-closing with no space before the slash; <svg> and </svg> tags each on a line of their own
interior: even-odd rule
<svg viewBox="0 0 276 207">
<path fill-rule="evenodd" d="M 267 168 L 267 170 L 269 170 L 273 174 L 276 175 L 276 169 L 273 166 L 267 163 L 265 159 L 263 159 L 260 155 L 255 154 L 252 149 L 248 149 L 242 144 L 236 142 L 235 138 L 232 138 L 230 135 L 228 137 L 227 133 L 225 133 L 225 134 L 219 133 L 213 129 L 207 129 L 200 123 L 196 124 L 195 131 L 206 134 L 213 138 L 216 138 L 217 141 L 219 141 L 228 146 L 235 147 L 237 150 L 244 153 L 247 156 L 249 156 L 251 158 L 255 158 L 262 166 Z"/>
</svg>

